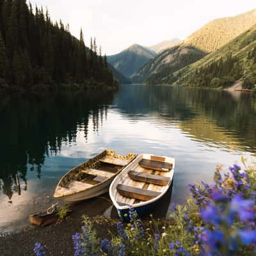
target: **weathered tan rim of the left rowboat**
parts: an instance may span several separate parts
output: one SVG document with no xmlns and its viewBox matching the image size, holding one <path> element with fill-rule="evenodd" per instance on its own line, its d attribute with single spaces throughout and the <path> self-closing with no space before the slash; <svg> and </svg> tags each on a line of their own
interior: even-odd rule
<svg viewBox="0 0 256 256">
<path fill-rule="evenodd" d="M 122 172 L 122 170 L 124 170 L 124 168 L 127 166 L 120 166 L 120 170 L 118 170 L 118 172 L 115 173 L 115 175 L 113 177 L 110 177 L 109 179 L 106 179 L 106 180 L 103 180 L 102 182 L 99 182 L 98 184 L 95 184 L 89 188 L 85 188 L 85 189 L 82 189 L 81 191 L 73 191 L 71 193 L 67 193 L 65 195 L 56 195 L 56 192 L 58 191 L 58 188 L 61 188 L 61 182 L 63 182 L 63 179 L 65 179 L 65 177 L 67 177 L 70 173 L 76 171 L 78 168 L 81 168 L 84 166 L 84 164 L 88 164 L 90 162 L 93 163 L 97 163 L 97 161 L 99 161 L 99 159 L 102 159 L 103 157 L 107 156 L 108 154 L 113 154 L 114 156 L 123 156 L 124 158 L 128 158 L 129 156 L 131 156 L 131 159 L 129 159 L 129 163 L 127 165 L 129 165 L 130 163 L 132 163 L 132 161 L 134 161 L 136 159 L 136 157 L 138 156 L 137 154 L 126 154 L 126 155 L 120 155 L 120 154 L 116 154 L 115 150 L 110 150 L 110 149 L 106 149 L 104 150 L 103 152 L 101 152 L 100 154 L 97 154 L 97 156 L 93 157 L 93 158 L 90 158 L 88 159 L 87 161 L 85 161 L 84 163 L 81 163 L 79 165 L 77 165 L 76 167 L 72 168 L 71 170 L 69 170 L 67 173 L 65 173 L 65 175 L 63 175 L 63 177 L 61 177 L 61 179 L 59 180 L 57 186 L 56 186 L 56 189 L 54 191 L 54 195 L 53 197 L 56 198 L 56 199 L 61 199 L 61 198 L 65 198 L 67 196 L 72 196 L 72 195 L 75 195 L 75 194 L 79 194 L 79 193 L 83 193 L 84 191 L 87 191 L 89 189 L 92 189 L 92 188 L 97 188 L 98 186 L 104 184 L 105 182 L 108 182 L 109 180 L 111 179 L 115 179 L 116 175 L 118 175 L 120 172 Z M 101 156 L 101 157 L 100 157 Z M 115 157 L 113 157 L 115 158 Z M 115 165 L 115 164 L 113 164 Z M 77 180 L 79 181 L 79 180 Z"/>
</svg>

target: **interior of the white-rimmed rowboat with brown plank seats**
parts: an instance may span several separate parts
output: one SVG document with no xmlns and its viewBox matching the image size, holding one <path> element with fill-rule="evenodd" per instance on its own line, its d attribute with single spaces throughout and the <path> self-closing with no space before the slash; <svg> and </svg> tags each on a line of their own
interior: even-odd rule
<svg viewBox="0 0 256 256">
<path fill-rule="evenodd" d="M 147 157 L 148 158 L 148 157 Z M 141 204 L 161 195 L 173 178 L 173 163 L 164 157 L 141 158 L 128 166 L 127 172 L 116 184 L 115 199 L 118 205 Z"/>
</svg>

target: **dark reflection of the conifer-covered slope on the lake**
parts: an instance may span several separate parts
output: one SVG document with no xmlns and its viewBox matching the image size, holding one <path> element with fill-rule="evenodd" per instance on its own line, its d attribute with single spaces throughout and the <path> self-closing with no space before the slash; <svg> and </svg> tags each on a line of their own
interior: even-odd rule
<svg viewBox="0 0 256 256">
<path fill-rule="evenodd" d="M 17 173 L 24 180 L 24 189 L 28 171 L 36 171 L 40 179 L 45 157 L 58 154 L 63 143 L 75 142 L 77 131 L 87 138 L 90 116 L 93 131 L 97 131 L 112 101 L 111 92 L 2 97 L 0 190 L 11 199 Z"/>
</svg>

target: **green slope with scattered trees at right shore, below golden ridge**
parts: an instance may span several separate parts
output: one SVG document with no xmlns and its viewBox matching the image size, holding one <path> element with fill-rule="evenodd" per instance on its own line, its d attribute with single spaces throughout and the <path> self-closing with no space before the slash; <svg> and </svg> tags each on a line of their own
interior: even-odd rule
<svg viewBox="0 0 256 256">
<path fill-rule="evenodd" d="M 225 88 L 236 83 L 241 88 L 255 88 L 256 24 L 217 51 L 176 72 L 174 79 L 189 86 Z"/>
</svg>

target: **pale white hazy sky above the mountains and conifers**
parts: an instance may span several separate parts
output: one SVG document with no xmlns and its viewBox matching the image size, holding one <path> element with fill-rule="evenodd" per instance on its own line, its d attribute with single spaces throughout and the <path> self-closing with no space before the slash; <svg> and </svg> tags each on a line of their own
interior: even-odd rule
<svg viewBox="0 0 256 256">
<path fill-rule="evenodd" d="M 52 20 L 70 24 L 73 35 L 83 27 L 86 44 L 96 36 L 102 52 L 115 54 L 137 43 L 152 45 L 185 39 L 212 19 L 256 8 L 255 0 L 31 0 L 47 6 Z"/>
</svg>

